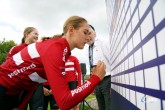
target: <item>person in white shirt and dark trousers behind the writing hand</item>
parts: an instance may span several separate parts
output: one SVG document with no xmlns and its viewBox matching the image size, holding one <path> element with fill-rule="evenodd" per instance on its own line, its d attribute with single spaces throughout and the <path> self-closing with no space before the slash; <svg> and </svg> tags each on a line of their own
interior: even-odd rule
<svg viewBox="0 0 165 110">
<path fill-rule="evenodd" d="M 111 88 L 111 75 L 110 75 L 110 48 L 109 43 L 96 38 L 96 32 L 92 25 L 90 26 L 90 39 L 88 41 L 89 50 L 89 64 L 90 70 L 93 73 L 93 66 L 96 65 L 98 60 L 102 60 L 106 65 L 106 75 L 104 79 L 95 87 L 94 93 L 98 102 L 99 110 L 110 110 L 110 88 Z"/>
</svg>

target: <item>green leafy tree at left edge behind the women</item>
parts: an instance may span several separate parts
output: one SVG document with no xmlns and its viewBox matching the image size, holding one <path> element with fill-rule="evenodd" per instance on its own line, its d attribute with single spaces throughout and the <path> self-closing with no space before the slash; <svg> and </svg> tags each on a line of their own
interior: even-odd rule
<svg viewBox="0 0 165 110">
<path fill-rule="evenodd" d="M 15 46 L 16 43 L 13 40 L 0 42 L 0 64 L 6 60 L 8 51 Z"/>
</svg>

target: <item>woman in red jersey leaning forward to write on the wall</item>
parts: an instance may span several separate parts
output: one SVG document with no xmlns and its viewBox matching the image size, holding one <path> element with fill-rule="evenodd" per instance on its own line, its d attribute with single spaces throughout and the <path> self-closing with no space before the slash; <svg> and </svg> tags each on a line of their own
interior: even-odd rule
<svg viewBox="0 0 165 110">
<path fill-rule="evenodd" d="M 68 110 L 86 96 L 102 80 L 105 65 L 97 63 L 92 77 L 77 89 L 70 90 L 65 79 L 65 61 L 74 48 L 83 49 L 90 39 L 88 22 L 71 16 L 63 26 L 63 38 L 49 39 L 28 45 L 0 66 L 0 108 L 6 109 L 6 94 L 22 90 L 34 91 L 39 83 L 49 81 L 52 93 L 61 110 Z M 23 110 L 31 94 L 26 94 L 19 106 Z"/>
</svg>

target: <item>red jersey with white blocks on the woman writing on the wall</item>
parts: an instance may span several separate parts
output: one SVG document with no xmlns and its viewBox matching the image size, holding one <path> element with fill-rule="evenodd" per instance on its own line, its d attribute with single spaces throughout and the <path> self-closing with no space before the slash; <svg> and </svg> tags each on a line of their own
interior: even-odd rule
<svg viewBox="0 0 165 110">
<path fill-rule="evenodd" d="M 77 89 L 70 90 L 64 74 L 69 55 L 65 38 L 30 44 L 0 66 L 0 85 L 8 89 L 8 94 L 18 94 L 22 90 L 35 90 L 38 83 L 48 80 L 60 109 L 72 108 L 93 91 L 100 79 L 93 75 Z M 27 102 L 23 100 L 19 109 Z"/>
</svg>

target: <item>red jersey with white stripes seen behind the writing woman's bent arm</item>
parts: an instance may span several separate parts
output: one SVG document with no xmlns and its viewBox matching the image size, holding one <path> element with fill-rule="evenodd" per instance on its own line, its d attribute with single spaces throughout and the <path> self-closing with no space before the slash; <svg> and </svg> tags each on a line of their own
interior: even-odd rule
<svg viewBox="0 0 165 110">
<path fill-rule="evenodd" d="M 65 63 L 66 79 L 68 82 L 78 81 L 78 86 L 82 84 L 82 72 L 79 60 L 75 56 L 70 56 Z"/>
</svg>

